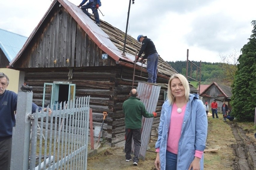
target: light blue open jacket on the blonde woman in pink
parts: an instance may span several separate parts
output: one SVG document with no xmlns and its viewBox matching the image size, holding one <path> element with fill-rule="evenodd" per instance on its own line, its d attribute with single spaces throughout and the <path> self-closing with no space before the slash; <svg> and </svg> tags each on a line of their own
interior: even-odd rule
<svg viewBox="0 0 256 170">
<path fill-rule="evenodd" d="M 166 167 L 166 147 L 171 112 L 172 105 L 170 105 L 169 100 L 166 100 L 162 106 L 158 139 L 155 146 L 155 148 L 160 148 L 161 170 L 165 170 Z M 190 94 L 178 143 L 177 170 L 189 168 L 190 163 L 194 160 L 195 150 L 204 151 L 207 127 L 208 121 L 203 102 L 199 100 L 198 94 Z M 200 169 L 203 170 L 203 157 L 200 160 Z"/>
</svg>

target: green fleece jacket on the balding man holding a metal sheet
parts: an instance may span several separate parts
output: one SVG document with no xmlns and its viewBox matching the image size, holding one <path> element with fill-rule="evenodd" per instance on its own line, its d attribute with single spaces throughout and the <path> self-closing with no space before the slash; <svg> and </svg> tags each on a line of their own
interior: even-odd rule
<svg viewBox="0 0 256 170">
<path fill-rule="evenodd" d="M 154 117 L 153 113 L 148 113 L 144 104 L 137 97 L 129 97 L 123 102 L 123 113 L 125 115 L 125 128 L 140 129 L 142 127 L 142 116 L 145 118 Z"/>
</svg>

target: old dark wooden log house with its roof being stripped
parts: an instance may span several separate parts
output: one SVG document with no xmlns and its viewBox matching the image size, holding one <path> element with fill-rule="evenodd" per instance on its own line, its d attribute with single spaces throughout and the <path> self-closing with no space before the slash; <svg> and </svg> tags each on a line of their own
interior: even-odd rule
<svg viewBox="0 0 256 170">
<path fill-rule="evenodd" d="M 146 64 L 133 62 L 141 47 L 136 39 L 127 37 L 123 54 L 124 35 L 104 21 L 98 27 L 75 4 L 55 0 L 10 66 L 24 72 L 24 82 L 33 86 L 33 101 L 39 106 L 90 95 L 93 127 L 101 126 L 102 112 L 108 112 L 103 138 L 111 146 L 123 146 L 122 104 L 132 89 L 134 68 L 134 87 L 148 76 Z M 153 127 L 159 123 L 167 83 L 174 73 L 177 72 L 160 57 L 159 116 L 154 118 Z M 55 91 L 51 93 L 53 87 Z M 193 86 L 190 90 L 196 92 Z"/>
</svg>

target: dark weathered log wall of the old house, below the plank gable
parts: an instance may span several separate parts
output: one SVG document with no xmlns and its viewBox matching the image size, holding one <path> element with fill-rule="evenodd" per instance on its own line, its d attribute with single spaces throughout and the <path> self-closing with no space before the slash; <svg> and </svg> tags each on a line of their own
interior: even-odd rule
<svg viewBox="0 0 256 170">
<path fill-rule="evenodd" d="M 25 83 L 33 87 L 33 102 L 38 106 L 42 104 L 45 82 L 69 81 L 76 84 L 76 97 L 90 95 L 90 108 L 93 110 L 93 127 L 100 127 L 103 121 L 103 111 L 108 112 L 103 124 L 103 138 L 106 139 L 107 144 L 111 147 L 123 146 L 125 124 L 122 105 L 123 101 L 129 97 L 132 89 L 132 71 L 132 69 L 121 66 L 81 67 L 74 69 L 72 79 L 68 80 L 68 68 L 33 68 L 27 70 Z M 124 76 L 125 79 L 123 79 Z M 134 86 L 136 87 L 137 85 L 138 82 L 135 82 Z M 166 87 L 161 88 L 156 109 L 158 116 L 154 118 L 154 126 L 159 123 L 166 90 Z"/>
</svg>

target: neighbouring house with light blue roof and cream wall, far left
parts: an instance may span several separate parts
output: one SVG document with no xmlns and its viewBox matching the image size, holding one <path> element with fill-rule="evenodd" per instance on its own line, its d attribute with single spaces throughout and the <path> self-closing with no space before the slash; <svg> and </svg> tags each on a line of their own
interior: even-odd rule
<svg viewBox="0 0 256 170">
<path fill-rule="evenodd" d="M 28 37 L 0 28 L 0 72 L 5 73 L 10 80 L 7 89 L 16 93 L 18 92 L 20 83 L 23 84 L 23 76 L 19 79 L 20 72 L 18 70 L 9 69 L 8 66 L 27 39 Z"/>
</svg>

